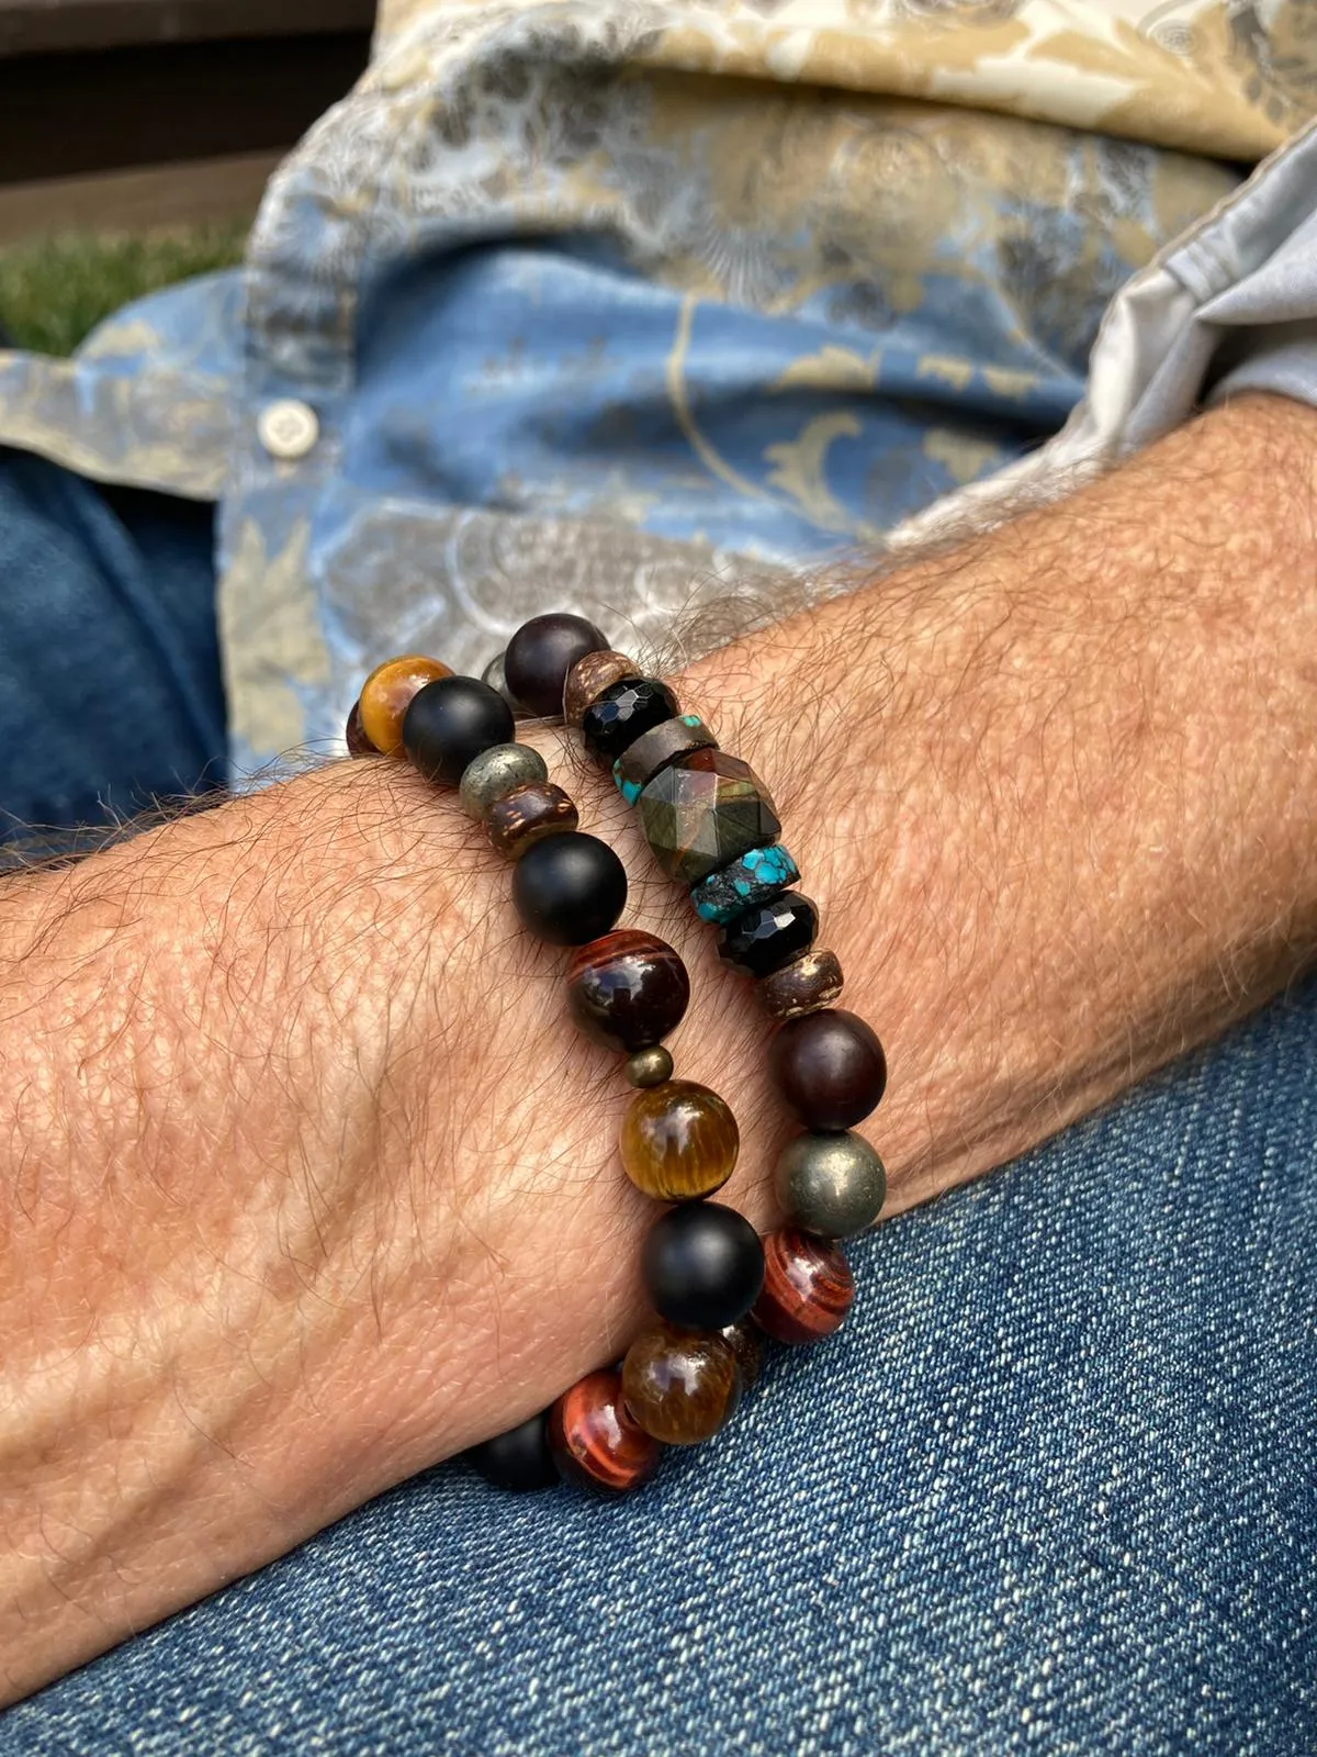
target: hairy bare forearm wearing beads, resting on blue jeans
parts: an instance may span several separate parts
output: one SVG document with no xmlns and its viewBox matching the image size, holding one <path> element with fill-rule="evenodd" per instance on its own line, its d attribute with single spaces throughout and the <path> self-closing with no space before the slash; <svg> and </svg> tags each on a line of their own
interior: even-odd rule
<svg viewBox="0 0 1317 1757">
<path fill-rule="evenodd" d="M 889 1211 L 1273 993 L 1317 915 L 1308 448 L 1259 404 L 678 687 L 773 787 L 883 1033 Z M 558 771 L 560 740 L 546 740 Z M 680 945 L 673 1042 L 771 1219 L 766 1023 Z M 0 1653 L 21 1690 L 541 1407 L 641 1311 L 625 1103 L 500 863 L 335 766 L 0 893 Z M 12 1492 L 11 1492 L 12 1490 Z"/>
</svg>

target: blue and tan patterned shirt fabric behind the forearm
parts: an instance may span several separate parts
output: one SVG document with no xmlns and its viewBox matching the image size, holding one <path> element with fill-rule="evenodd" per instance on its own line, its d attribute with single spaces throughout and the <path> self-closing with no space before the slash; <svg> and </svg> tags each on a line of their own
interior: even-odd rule
<svg viewBox="0 0 1317 1757">
<path fill-rule="evenodd" d="M 641 647 L 745 620 L 1055 432 L 1217 158 L 1312 109 L 1308 16 L 392 4 L 244 276 L 0 353 L 0 443 L 221 501 L 237 771 L 339 748 L 381 650 L 479 668 L 551 604 Z M 283 397 L 297 462 L 258 439 Z"/>
</svg>

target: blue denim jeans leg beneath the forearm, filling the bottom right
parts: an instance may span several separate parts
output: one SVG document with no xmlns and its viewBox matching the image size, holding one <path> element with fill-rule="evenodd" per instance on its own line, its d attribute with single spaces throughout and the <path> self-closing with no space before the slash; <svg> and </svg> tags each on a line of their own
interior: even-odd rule
<svg viewBox="0 0 1317 1757">
<path fill-rule="evenodd" d="M 0 1753 L 1317 1750 L 1317 989 L 850 1249 L 618 1504 L 434 1471 Z"/>
</svg>

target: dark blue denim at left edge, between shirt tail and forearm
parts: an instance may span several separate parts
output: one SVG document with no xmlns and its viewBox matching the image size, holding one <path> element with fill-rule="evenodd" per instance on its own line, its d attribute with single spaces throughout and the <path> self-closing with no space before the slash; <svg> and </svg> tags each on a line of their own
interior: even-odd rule
<svg viewBox="0 0 1317 1757">
<path fill-rule="evenodd" d="M 0 450 L 0 842 L 225 778 L 214 510 Z"/>
</svg>

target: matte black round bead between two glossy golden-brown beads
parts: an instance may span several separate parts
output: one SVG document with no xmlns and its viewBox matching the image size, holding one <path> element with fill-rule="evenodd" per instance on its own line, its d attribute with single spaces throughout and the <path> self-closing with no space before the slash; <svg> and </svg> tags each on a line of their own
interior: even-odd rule
<svg viewBox="0 0 1317 1757">
<path fill-rule="evenodd" d="M 695 1330 L 722 1330 L 745 1318 L 759 1298 L 764 1246 L 736 1209 L 683 1202 L 650 1226 L 641 1270 L 660 1318 Z"/>
</svg>

